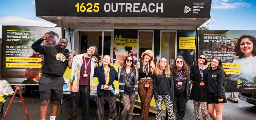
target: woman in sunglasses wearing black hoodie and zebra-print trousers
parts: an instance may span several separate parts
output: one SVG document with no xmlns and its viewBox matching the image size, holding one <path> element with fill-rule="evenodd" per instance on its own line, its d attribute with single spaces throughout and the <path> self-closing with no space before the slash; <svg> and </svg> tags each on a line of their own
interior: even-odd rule
<svg viewBox="0 0 256 120">
<path fill-rule="evenodd" d="M 172 72 L 167 65 L 165 58 L 160 58 L 156 63 L 155 74 L 153 75 L 154 98 L 156 101 L 156 120 L 162 120 L 162 104 L 165 102 L 168 111 L 168 120 L 175 120 L 173 113 L 174 81 Z"/>
</svg>

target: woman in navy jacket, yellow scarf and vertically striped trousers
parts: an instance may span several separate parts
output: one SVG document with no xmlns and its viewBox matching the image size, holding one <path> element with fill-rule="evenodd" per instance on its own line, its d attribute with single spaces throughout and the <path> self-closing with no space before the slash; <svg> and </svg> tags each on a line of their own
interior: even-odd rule
<svg viewBox="0 0 256 120">
<path fill-rule="evenodd" d="M 114 80 L 118 80 L 117 71 L 114 67 L 110 66 L 111 58 L 109 55 L 104 55 L 102 63 L 103 65 L 95 68 L 94 77 L 97 77 L 99 84 L 97 86 L 97 111 L 96 120 L 104 120 L 104 105 L 105 98 L 109 102 L 109 120 L 117 120 L 117 106 L 116 96 L 108 90 L 109 86 L 112 86 Z"/>
</svg>

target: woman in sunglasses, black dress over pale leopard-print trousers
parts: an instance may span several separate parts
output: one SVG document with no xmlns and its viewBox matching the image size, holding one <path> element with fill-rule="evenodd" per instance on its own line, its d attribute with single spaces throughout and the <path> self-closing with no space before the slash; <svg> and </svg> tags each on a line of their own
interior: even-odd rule
<svg viewBox="0 0 256 120">
<path fill-rule="evenodd" d="M 194 113 L 196 120 L 200 120 L 200 104 L 203 120 L 208 120 L 207 115 L 207 77 L 208 65 L 205 54 L 200 54 L 198 60 L 195 62 L 190 70 L 190 78 L 193 81 L 191 89 L 191 99 L 194 103 Z"/>
</svg>

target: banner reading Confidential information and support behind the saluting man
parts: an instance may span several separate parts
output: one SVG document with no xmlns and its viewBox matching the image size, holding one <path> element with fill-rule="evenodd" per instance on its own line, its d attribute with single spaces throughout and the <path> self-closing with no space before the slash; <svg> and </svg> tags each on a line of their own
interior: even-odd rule
<svg viewBox="0 0 256 120">
<path fill-rule="evenodd" d="M 31 45 L 49 31 L 54 34 L 43 44 L 58 44 L 61 28 L 2 26 L 2 79 L 10 84 L 38 84 L 44 57 Z"/>
</svg>

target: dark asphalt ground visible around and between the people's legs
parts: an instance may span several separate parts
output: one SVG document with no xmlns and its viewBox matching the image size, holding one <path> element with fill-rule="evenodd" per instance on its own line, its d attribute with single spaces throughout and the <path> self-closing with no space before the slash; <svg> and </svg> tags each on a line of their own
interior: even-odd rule
<svg viewBox="0 0 256 120">
<path fill-rule="evenodd" d="M 11 97 L 9 97 L 6 101 L 4 111 L 6 110 L 9 101 Z M 15 98 L 15 100 L 20 100 L 20 98 Z M 38 120 L 39 119 L 39 108 L 40 108 L 40 100 L 38 93 L 35 93 L 33 95 L 24 96 L 24 102 L 26 109 L 28 111 L 28 115 L 30 120 Z M 107 103 L 107 102 L 106 102 Z M 96 111 L 97 104 L 96 102 L 91 99 L 90 100 L 90 119 L 95 119 L 95 111 Z M 64 100 L 63 101 L 63 110 L 61 115 L 61 109 L 60 106 L 58 108 L 58 113 L 56 120 L 67 120 L 69 118 L 69 112 L 70 112 L 70 100 Z M 140 109 L 135 108 L 135 113 L 140 113 Z M 81 108 L 78 109 L 78 120 L 81 120 Z M 109 109 L 108 104 L 105 106 L 105 120 L 108 119 Z M 155 114 L 150 113 L 149 114 L 149 120 L 155 120 L 156 117 Z M 255 120 L 256 116 L 256 106 L 249 104 L 247 102 L 243 102 L 239 100 L 239 103 L 232 103 L 228 101 L 228 103 L 225 103 L 223 106 L 223 120 Z M 47 117 L 46 120 L 49 120 L 50 118 L 50 107 L 48 107 Z M 134 120 L 139 120 L 139 116 L 133 116 Z M 202 116 L 201 116 L 202 118 Z M 24 114 L 24 110 L 22 107 L 22 103 L 20 102 L 14 102 L 11 105 L 11 108 L 8 112 L 8 115 L 6 117 L 6 120 L 25 120 L 26 116 Z M 189 100 L 187 102 L 187 108 L 186 108 L 186 114 L 184 120 L 193 120 L 194 118 L 194 106 L 193 101 Z M 209 117 L 210 120 L 210 117 Z"/>
</svg>

